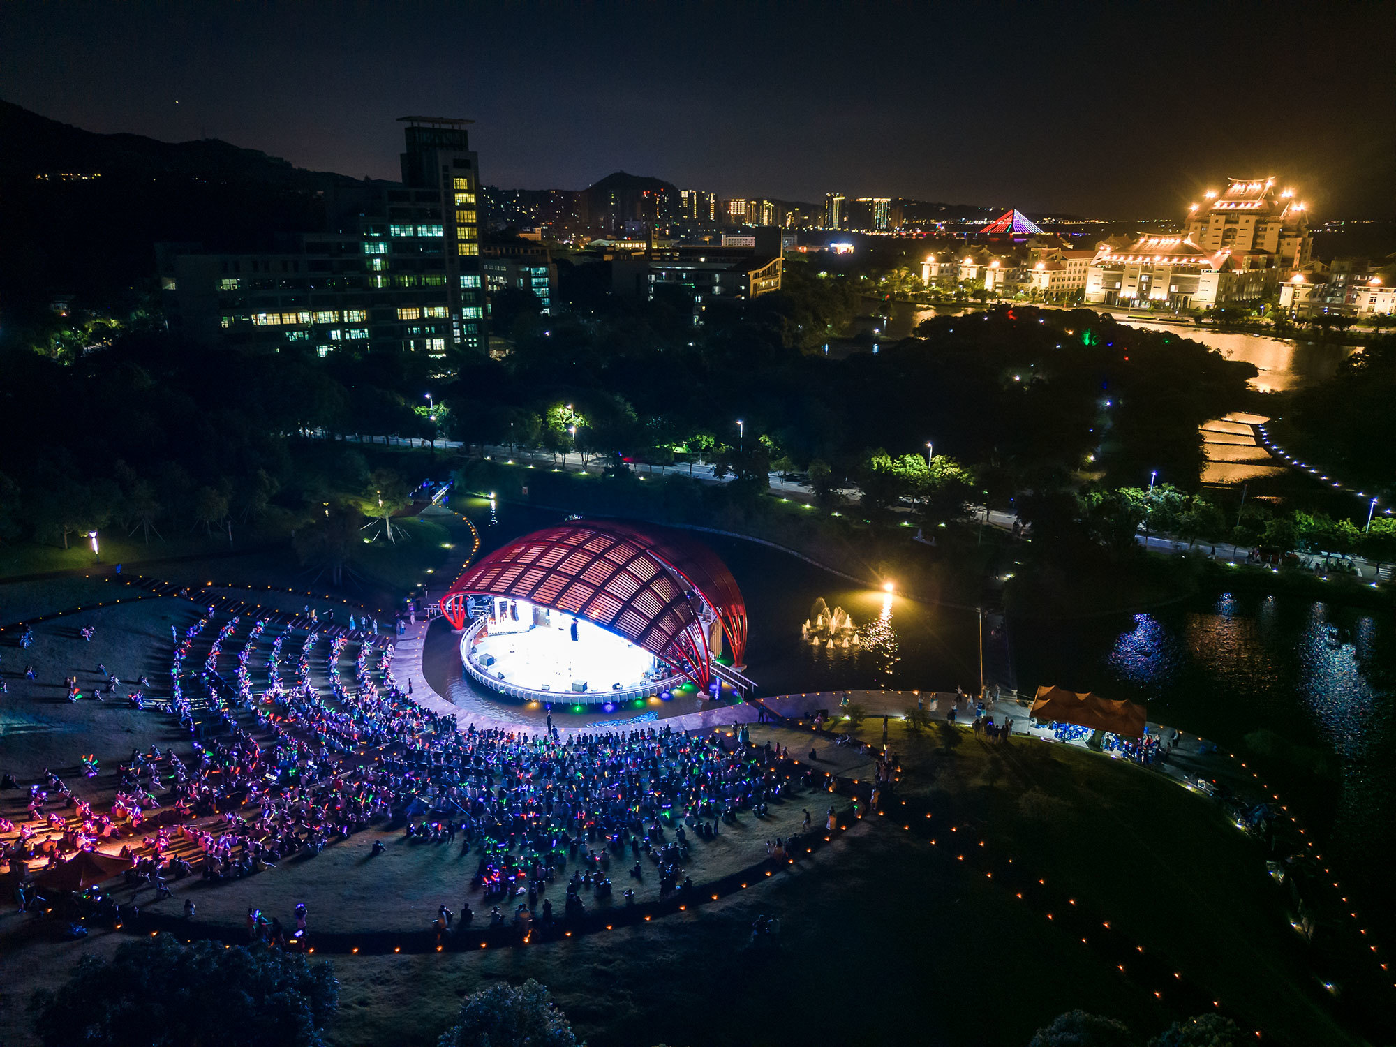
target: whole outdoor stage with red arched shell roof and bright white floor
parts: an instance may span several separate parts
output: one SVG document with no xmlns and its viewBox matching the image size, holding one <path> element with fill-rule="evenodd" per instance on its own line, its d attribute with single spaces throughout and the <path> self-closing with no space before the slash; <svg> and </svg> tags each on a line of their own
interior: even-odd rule
<svg viewBox="0 0 1396 1047">
<path fill-rule="evenodd" d="M 465 571 L 441 599 L 468 676 L 524 701 L 606 708 L 680 687 L 747 694 L 747 610 L 718 557 L 687 535 L 568 521 Z M 723 649 L 737 667 L 718 662 Z"/>
</svg>

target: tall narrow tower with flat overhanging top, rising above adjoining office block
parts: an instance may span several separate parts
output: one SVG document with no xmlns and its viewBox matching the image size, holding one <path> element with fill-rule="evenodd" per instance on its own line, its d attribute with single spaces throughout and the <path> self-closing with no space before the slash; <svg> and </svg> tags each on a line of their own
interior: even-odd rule
<svg viewBox="0 0 1396 1047">
<path fill-rule="evenodd" d="M 445 229 L 445 276 L 452 335 L 465 349 L 489 348 L 484 286 L 480 269 L 480 158 L 465 130 L 473 120 L 444 116 L 402 116 L 406 151 L 402 181 L 434 190 Z"/>
</svg>

